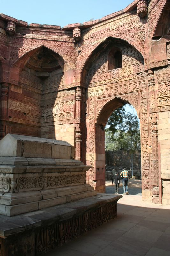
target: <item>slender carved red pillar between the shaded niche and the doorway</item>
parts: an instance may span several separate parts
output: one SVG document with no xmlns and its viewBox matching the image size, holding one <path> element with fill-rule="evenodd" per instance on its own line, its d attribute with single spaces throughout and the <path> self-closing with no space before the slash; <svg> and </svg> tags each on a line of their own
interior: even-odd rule
<svg viewBox="0 0 170 256">
<path fill-rule="evenodd" d="M 76 88 L 75 120 L 74 120 L 74 124 L 76 127 L 75 158 L 80 161 L 82 160 L 81 116 L 82 116 L 82 89 L 81 87 L 77 87 Z"/>
</svg>

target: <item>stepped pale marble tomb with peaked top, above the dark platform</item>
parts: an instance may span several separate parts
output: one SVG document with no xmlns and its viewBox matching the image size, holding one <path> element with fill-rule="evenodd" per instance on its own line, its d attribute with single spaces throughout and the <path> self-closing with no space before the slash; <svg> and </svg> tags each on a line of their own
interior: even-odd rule
<svg viewBox="0 0 170 256">
<path fill-rule="evenodd" d="M 72 152 L 65 141 L 7 134 L 0 141 L 0 214 L 14 216 L 95 196 L 86 184 L 90 166 L 72 159 Z"/>
</svg>

